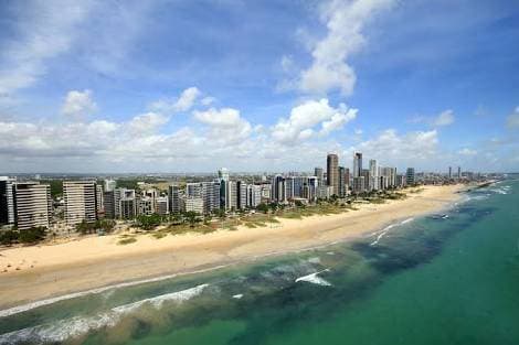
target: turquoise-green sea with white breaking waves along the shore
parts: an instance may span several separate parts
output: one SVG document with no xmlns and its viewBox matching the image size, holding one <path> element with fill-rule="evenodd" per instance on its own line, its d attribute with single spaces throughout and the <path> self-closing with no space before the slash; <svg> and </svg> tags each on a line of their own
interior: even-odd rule
<svg viewBox="0 0 519 345">
<path fill-rule="evenodd" d="M 519 181 L 442 214 L 0 317 L 0 344 L 519 344 Z"/>
</svg>

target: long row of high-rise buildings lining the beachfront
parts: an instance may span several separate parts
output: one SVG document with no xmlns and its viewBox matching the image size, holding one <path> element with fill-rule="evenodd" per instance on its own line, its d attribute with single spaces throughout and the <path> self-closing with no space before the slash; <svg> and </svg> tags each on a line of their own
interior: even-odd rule
<svg viewBox="0 0 519 345">
<path fill-rule="evenodd" d="M 139 215 L 168 215 L 195 212 L 208 215 L 215 212 L 254 209 L 262 203 L 314 203 L 330 197 L 343 198 L 373 191 L 398 188 L 415 183 L 436 181 L 436 175 L 415 174 L 413 168 L 398 173 L 396 168 L 380 166 L 374 159 L 363 161 L 356 152 L 352 170 L 339 164 L 339 157 L 327 155 L 326 170 L 315 168 L 314 173 L 275 174 L 261 181 L 248 177 L 231 179 L 221 169 L 211 181 L 171 184 L 160 192 L 145 183 L 138 190 L 118 187 L 115 180 L 64 181 L 63 220 L 68 228 L 83 222 L 97 219 L 134 219 Z M 445 180 L 466 179 L 460 168 L 453 175 L 449 168 Z M 445 176 L 446 175 L 446 176 Z M 431 180 L 433 179 L 433 180 Z M 434 182 L 435 183 L 435 182 Z M 0 226 L 15 225 L 23 230 L 52 224 L 53 201 L 47 184 L 20 182 L 0 176 Z"/>
</svg>

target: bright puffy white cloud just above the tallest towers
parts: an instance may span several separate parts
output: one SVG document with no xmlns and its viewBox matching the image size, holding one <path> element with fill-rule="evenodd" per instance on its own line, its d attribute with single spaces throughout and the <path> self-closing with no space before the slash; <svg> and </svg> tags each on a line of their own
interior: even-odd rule
<svg viewBox="0 0 519 345">
<path fill-rule="evenodd" d="M 272 128 L 272 137 L 279 143 L 295 144 L 316 133 L 327 136 L 354 119 L 357 112 L 357 109 L 349 109 L 345 104 L 333 108 L 326 98 L 307 100 L 294 107 L 287 119 L 280 119 Z M 317 128 L 319 125 L 320 128 Z"/>
</svg>

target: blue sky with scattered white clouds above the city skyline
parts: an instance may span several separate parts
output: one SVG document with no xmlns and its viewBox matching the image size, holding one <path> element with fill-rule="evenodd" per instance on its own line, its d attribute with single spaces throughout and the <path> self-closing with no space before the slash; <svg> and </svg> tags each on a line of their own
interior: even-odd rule
<svg viewBox="0 0 519 345">
<path fill-rule="evenodd" d="M 0 172 L 519 171 L 519 2 L 0 2 Z"/>
</svg>

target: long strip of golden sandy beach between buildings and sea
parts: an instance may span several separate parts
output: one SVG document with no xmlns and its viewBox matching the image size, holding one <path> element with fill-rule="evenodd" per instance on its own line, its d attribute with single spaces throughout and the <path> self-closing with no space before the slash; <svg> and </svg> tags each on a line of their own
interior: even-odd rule
<svg viewBox="0 0 519 345">
<path fill-rule="evenodd" d="M 274 227 L 149 235 L 117 245 L 116 235 L 0 251 L 0 310 L 65 293 L 163 274 L 187 273 L 366 236 L 399 219 L 437 212 L 460 197 L 460 186 L 426 186 L 402 201 Z M 356 206 L 357 207 L 357 206 Z M 18 268 L 18 270 L 17 270 Z M 7 269 L 7 272 L 2 272 Z"/>
</svg>

